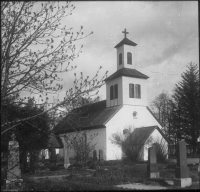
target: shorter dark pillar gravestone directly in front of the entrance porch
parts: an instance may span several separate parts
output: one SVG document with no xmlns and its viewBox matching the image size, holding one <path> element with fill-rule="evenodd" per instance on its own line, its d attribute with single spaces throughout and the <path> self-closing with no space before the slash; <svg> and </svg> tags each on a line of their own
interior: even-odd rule
<svg viewBox="0 0 200 192">
<path fill-rule="evenodd" d="M 148 149 L 147 173 L 149 178 L 159 178 L 160 175 L 158 171 L 155 146 L 152 146 Z"/>
</svg>

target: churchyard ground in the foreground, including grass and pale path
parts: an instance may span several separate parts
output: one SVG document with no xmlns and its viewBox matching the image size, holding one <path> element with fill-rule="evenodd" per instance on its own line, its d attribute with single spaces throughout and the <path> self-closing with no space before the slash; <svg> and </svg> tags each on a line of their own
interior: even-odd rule
<svg viewBox="0 0 200 192">
<path fill-rule="evenodd" d="M 69 169 L 64 169 L 62 165 L 51 165 L 50 170 L 52 171 L 38 170 L 34 175 L 24 176 L 24 181 L 26 181 L 24 189 L 28 191 L 121 190 L 122 188 L 119 187 L 144 190 L 181 189 L 173 186 L 174 168 L 175 164 L 159 164 L 160 178 L 149 179 L 146 163 L 124 164 L 120 161 L 112 161 L 91 164 L 85 168 L 71 166 Z M 199 189 L 197 167 L 190 166 L 190 177 L 193 184 L 188 189 Z"/>
</svg>

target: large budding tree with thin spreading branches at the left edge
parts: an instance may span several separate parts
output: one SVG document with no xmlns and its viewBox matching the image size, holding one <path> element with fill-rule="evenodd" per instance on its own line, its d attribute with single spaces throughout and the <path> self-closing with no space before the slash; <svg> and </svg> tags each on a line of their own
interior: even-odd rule
<svg viewBox="0 0 200 192">
<path fill-rule="evenodd" d="M 74 43 L 92 34 L 84 35 L 82 26 L 73 33 L 72 28 L 61 24 L 74 9 L 70 2 L 1 2 L 2 106 L 7 103 L 23 105 L 38 94 L 39 104 L 47 104 L 50 103 L 49 94 L 57 94 L 63 89 L 63 79 L 58 74 L 76 68 L 71 62 L 83 47 L 76 50 Z M 63 105 L 70 109 L 75 98 L 97 91 L 107 74 L 98 80 L 99 70 L 91 79 L 74 73 L 74 85 L 66 91 L 65 98 L 42 113 Z M 24 92 L 29 98 L 21 97 Z M 1 108 L 1 134 L 38 115 L 8 120 Z"/>
</svg>

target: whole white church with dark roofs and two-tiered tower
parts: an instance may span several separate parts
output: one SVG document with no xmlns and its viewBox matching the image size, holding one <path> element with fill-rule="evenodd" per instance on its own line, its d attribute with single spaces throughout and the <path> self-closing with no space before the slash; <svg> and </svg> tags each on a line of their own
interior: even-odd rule
<svg viewBox="0 0 200 192">
<path fill-rule="evenodd" d="M 147 106 L 149 77 L 135 69 L 133 58 L 137 44 L 126 37 L 126 30 L 123 33 L 124 39 L 115 46 L 117 71 L 105 79 L 106 100 L 77 109 L 82 112 L 82 117 L 66 116 L 54 127 L 54 133 L 63 142 L 64 147 L 59 149 L 59 154 L 64 157 L 66 168 L 74 155 L 69 141 L 77 133 L 85 135 L 86 141 L 92 138 L 90 143 L 94 145 L 97 154 L 101 151 L 104 160 L 119 160 L 123 157 L 121 148 L 111 142 L 111 137 L 115 133 L 125 134 L 128 128 L 133 131 L 135 139 L 144 138 L 146 141 L 153 137 L 163 139 L 168 144 L 161 123 Z M 148 149 L 145 147 L 142 159 L 148 159 Z"/>
</svg>

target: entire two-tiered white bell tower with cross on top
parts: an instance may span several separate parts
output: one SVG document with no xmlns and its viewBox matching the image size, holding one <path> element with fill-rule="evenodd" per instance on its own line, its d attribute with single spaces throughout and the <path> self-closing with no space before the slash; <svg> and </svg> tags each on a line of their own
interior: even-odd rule
<svg viewBox="0 0 200 192">
<path fill-rule="evenodd" d="M 116 105 L 147 106 L 147 79 L 145 74 L 135 69 L 134 49 L 137 45 L 129 40 L 126 29 L 124 39 L 117 49 L 117 71 L 106 78 L 106 106 Z"/>
</svg>

